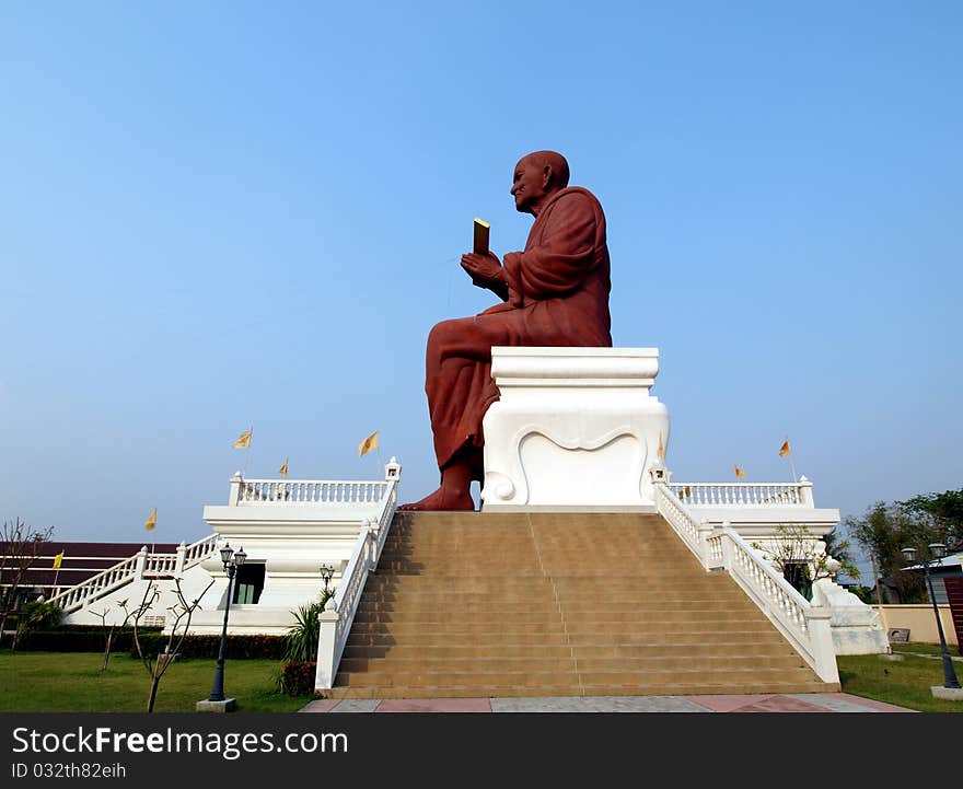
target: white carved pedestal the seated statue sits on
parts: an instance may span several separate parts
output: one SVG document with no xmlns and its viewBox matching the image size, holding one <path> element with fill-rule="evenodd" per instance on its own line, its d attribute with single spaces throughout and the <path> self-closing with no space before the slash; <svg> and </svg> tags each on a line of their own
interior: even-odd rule
<svg viewBox="0 0 963 789">
<path fill-rule="evenodd" d="M 669 410 L 657 348 L 491 349 L 481 510 L 651 511 Z"/>
</svg>

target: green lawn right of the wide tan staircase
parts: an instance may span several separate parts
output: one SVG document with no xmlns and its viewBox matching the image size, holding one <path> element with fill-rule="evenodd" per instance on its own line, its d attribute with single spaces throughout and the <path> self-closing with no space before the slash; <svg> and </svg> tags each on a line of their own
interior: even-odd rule
<svg viewBox="0 0 963 789">
<path fill-rule="evenodd" d="M 884 661 L 877 654 L 837 658 L 843 692 L 920 712 L 963 712 L 963 701 L 932 697 L 930 687 L 943 684 L 942 661 L 936 659 L 941 654 L 939 645 L 894 643 L 893 651 L 902 654 L 903 660 Z M 955 648 L 951 648 L 950 654 L 956 654 Z M 953 661 L 953 669 L 958 678 L 963 677 L 963 662 Z"/>
</svg>

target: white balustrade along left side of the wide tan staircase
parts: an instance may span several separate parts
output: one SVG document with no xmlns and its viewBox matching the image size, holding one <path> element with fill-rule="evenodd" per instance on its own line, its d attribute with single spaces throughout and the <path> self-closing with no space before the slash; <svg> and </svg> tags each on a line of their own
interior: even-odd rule
<svg viewBox="0 0 963 789">
<path fill-rule="evenodd" d="M 317 620 L 320 623 L 317 639 L 317 670 L 314 678 L 315 693 L 324 695 L 334 687 L 338 673 L 338 664 L 348 635 L 355 624 L 358 604 L 364 592 L 368 576 L 378 567 L 381 552 L 384 548 L 392 519 L 397 508 L 398 480 L 391 479 L 385 487 L 376 518 L 367 520 L 364 527 L 358 533 L 351 558 L 341 573 L 335 594 L 325 604 Z"/>
</svg>

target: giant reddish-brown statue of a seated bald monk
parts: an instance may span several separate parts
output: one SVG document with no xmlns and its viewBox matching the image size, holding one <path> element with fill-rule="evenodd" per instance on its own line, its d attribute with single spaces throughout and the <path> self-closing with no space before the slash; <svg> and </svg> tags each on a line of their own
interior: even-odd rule
<svg viewBox="0 0 963 789">
<path fill-rule="evenodd" d="M 497 304 L 443 321 L 428 336 L 425 392 L 441 486 L 402 510 L 474 510 L 484 476 L 481 418 L 499 397 L 491 346 L 611 347 L 608 247 L 602 206 L 568 186 L 565 156 L 537 151 L 514 169 L 515 209 L 535 217 L 522 252 L 462 256 L 462 268 Z"/>
</svg>

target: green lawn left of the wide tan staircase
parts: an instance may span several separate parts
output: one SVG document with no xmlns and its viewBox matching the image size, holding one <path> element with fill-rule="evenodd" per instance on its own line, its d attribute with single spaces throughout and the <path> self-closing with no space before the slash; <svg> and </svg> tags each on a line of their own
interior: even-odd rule
<svg viewBox="0 0 963 789">
<path fill-rule="evenodd" d="M 101 672 L 96 652 L 0 651 L 0 711 L 4 712 L 143 712 L 150 676 L 127 653 L 112 655 Z M 178 660 L 161 678 L 155 712 L 193 712 L 210 695 L 214 660 Z M 242 712 L 293 712 L 311 700 L 275 689 L 276 660 L 228 660 L 224 694 L 237 699 Z"/>
</svg>

